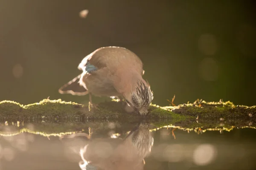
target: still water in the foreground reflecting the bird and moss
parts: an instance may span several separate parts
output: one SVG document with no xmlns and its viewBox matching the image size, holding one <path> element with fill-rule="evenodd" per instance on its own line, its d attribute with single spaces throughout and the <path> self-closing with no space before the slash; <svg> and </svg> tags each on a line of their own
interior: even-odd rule
<svg viewBox="0 0 256 170">
<path fill-rule="evenodd" d="M 256 129 L 1 122 L 0 170 L 253 170 Z"/>
</svg>

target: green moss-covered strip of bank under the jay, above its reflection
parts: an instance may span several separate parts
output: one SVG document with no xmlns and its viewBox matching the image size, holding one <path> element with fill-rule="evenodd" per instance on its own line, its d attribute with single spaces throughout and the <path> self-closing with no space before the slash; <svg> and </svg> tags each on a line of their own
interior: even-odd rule
<svg viewBox="0 0 256 170">
<path fill-rule="evenodd" d="M 126 113 L 124 103 L 112 100 L 102 102 L 97 107 L 88 107 L 61 99 L 43 99 L 41 102 L 21 105 L 13 101 L 0 102 L 0 120 L 29 121 L 91 121 L 91 120 L 124 120 L 125 122 L 141 118 L 137 113 Z M 150 105 L 148 116 L 143 119 L 169 119 L 172 122 L 189 120 L 250 120 L 255 121 L 256 106 L 234 105 L 232 102 L 205 102 L 196 100 L 191 104 L 160 107 Z"/>
</svg>

